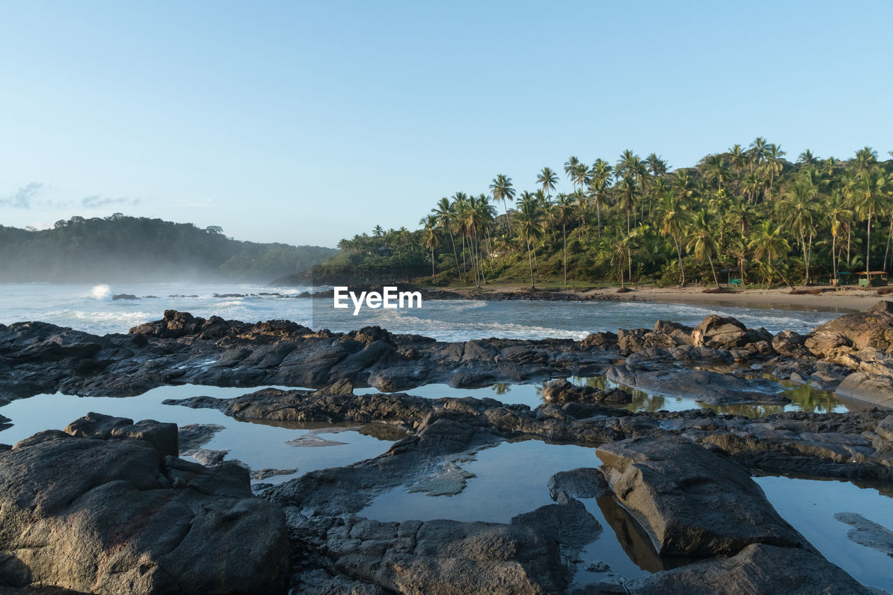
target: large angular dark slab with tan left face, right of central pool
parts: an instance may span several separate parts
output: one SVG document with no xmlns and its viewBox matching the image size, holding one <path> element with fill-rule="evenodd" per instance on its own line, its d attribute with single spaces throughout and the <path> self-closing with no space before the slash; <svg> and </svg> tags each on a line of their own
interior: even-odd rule
<svg viewBox="0 0 893 595">
<path fill-rule="evenodd" d="M 730 556 L 752 543 L 805 541 L 775 511 L 750 473 L 686 440 L 634 438 L 597 449 L 614 495 L 661 555 Z"/>
</svg>

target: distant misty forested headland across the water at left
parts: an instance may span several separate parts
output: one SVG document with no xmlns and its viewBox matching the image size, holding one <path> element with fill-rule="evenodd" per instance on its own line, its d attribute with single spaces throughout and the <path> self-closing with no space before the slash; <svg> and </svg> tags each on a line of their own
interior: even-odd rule
<svg viewBox="0 0 893 595">
<path fill-rule="evenodd" d="M 50 230 L 0 225 L 0 281 L 270 281 L 303 272 L 332 248 L 258 244 L 146 217 L 71 217 Z"/>
</svg>

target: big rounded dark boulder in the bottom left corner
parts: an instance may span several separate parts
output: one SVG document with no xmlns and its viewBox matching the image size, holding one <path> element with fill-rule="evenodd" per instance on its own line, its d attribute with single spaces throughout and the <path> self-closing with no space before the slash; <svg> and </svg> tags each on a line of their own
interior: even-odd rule
<svg viewBox="0 0 893 595">
<path fill-rule="evenodd" d="M 177 454 L 174 424 L 96 414 L 0 451 L 0 586 L 284 592 L 280 509 Z"/>
</svg>

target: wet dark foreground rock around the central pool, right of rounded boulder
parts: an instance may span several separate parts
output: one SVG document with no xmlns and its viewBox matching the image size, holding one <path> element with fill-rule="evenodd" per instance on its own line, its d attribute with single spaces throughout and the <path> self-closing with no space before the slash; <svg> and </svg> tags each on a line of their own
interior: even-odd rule
<svg viewBox="0 0 893 595">
<path fill-rule="evenodd" d="M 630 592 L 671 592 L 677 586 L 682 591 L 715 592 L 711 591 L 714 582 L 722 585 L 719 592 L 772 592 L 767 585 L 773 576 L 780 584 L 802 583 L 799 592 L 809 591 L 820 581 L 832 581 L 823 583 L 830 589 L 827 592 L 864 592 L 777 515 L 750 473 L 796 472 L 872 482 L 893 479 L 893 445 L 888 438 L 888 419 L 893 415 L 884 411 L 748 419 L 710 410 L 633 414 L 583 403 L 544 404 L 531 410 L 493 399 L 418 401 L 399 393 L 377 395 L 372 406 L 369 396 L 363 395 L 260 392 L 257 400 L 271 415 L 299 414 L 327 422 L 387 418 L 395 410 L 407 415 L 401 421 L 390 417 L 407 436 L 384 455 L 307 473 L 264 490 L 264 498 L 287 511 L 293 547 L 305 552 L 305 567 L 293 580 L 298 591 L 337 592 L 346 584 L 370 590 L 357 592 L 557 593 L 568 589 L 577 566 L 568 566 L 566 560 L 574 559 L 583 539 L 574 536 L 593 534 L 585 527 L 578 531 L 573 524 L 555 530 L 564 527 L 563 511 L 573 508 L 539 510 L 537 516 L 551 520 L 535 534 L 529 527 L 519 532 L 513 526 L 515 520 L 512 524 L 467 524 L 407 518 L 384 523 L 363 516 L 363 509 L 381 490 L 460 493 L 467 482 L 481 481 L 472 479 L 461 462 L 505 439 L 561 436 L 565 442 L 600 447 L 600 455 L 613 453 L 612 462 L 605 461 L 602 470 L 588 467 L 555 473 L 547 489 L 555 507 L 575 507 L 579 499 L 599 500 L 613 531 L 629 541 L 624 548 L 630 556 L 657 573 L 632 582 L 638 591 L 626 582 Z M 254 396 L 247 395 L 180 403 L 213 406 L 230 415 L 258 415 L 261 409 L 250 407 L 253 400 Z M 595 452 L 593 462 L 597 463 Z M 575 513 L 573 518 L 579 521 L 580 515 Z M 413 541 L 419 533 L 413 531 L 425 526 L 426 546 L 419 549 Z M 652 539 L 643 527 L 658 532 L 660 538 Z M 486 556 L 458 555 L 457 534 L 473 537 L 463 541 L 463 552 L 466 548 L 478 552 L 482 547 L 478 540 L 495 540 L 500 546 L 488 546 Z M 436 547 L 435 541 L 439 542 Z M 658 543 L 656 549 L 653 542 Z M 531 557 L 531 544 L 536 544 L 538 557 Z M 764 559 L 759 556 L 772 548 L 780 550 L 772 554 L 773 559 L 787 562 L 759 569 Z M 509 549 L 519 552 L 511 564 Z M 671 552 L 687 557 L 661 556 Z M 472 559 L 466 559 L 469 556 Z M 392 564 L 380 566 L 377 561 L 382 557 Z M 691 566 L 705 557 L 707 561 Z M 795 563 L 798 566 L 787 566 Z M 472 572 L 479 573 L 475 582 L 465 576 Z M 484 576 L 489 578 L 484 580 Z M 755 591 L 747 591 L 748 585 Z M 603 591 L 580 592 L 623 592 L 620 583 L 590 587 Z"/>
</svg>

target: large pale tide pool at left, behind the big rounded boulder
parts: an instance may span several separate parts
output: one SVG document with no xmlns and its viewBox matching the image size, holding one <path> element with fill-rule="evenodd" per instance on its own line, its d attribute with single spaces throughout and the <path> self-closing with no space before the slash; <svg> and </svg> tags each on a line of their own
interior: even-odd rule
<svg viewBox="0 0 893 595">
<path fill-rule="evenodd" d="M 189 423 L 213 423 L 223 426 L 223 429 L 202 448 L 229 450 L 225 460 L 238 459 L 253 471 L 297 470 L 297 473 L 263 480 L 265 483 L 280 483 L 317 469 L 350 465 L 377 457 L 401 437 L 395 435 L 392 427 L 383 424 L 341 424 L 332 427 L 321 423 L 254 423 L 233 419 L 216 409 L 162 405 L 166 398 L 200 395 L 234 398 L 246 392 L 250 390 L 187 384 L 149 390 L 138 397 L 74 397 L 56 393 L 21 398 L 0 407 L 0 414 L 13 420 L 11 427 L 0 431 L 0 442 L 14 444 L 37 432 L 62 430 L 91 411 L 129 417 L 134 421 L 154 419 L 172 422 L 180 427 Z M 314 446 L 316 448 L 308 448 Z"/>
</svg>

